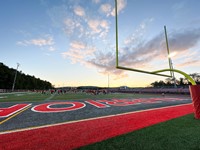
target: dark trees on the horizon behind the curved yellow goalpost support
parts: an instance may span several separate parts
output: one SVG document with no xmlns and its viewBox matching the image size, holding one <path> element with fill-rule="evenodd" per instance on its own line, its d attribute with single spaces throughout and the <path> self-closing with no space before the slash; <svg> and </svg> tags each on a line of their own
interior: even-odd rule
<svg viewBox="0 0 200 150">
<path fill-rule="evenodd" d="M 189 74 L 197 84 L 200 84 L 200 73 L 192 73 Z M 174 81 L 176 84 L 174 84 Z M 187 78 L 179 78 L 179 79 L 173 79 L 173 78 L 167 78 L 165 81 L 155 81 L 151 83 L 150 85 L 152 87 L 174 87 L 176 85 L 177 87 L 188 87 L 191 83 L 188 81 Z"/>
</svg>

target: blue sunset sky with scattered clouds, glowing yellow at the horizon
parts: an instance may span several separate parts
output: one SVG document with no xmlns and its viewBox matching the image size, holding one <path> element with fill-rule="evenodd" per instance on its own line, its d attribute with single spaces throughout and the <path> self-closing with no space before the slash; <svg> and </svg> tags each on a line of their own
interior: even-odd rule
<svg viewBox="0 0 200 150">
<path fill-rule="evenodd" d="M 199 0 L 117 1 L 120 66 L 169 68 L 166 26 L 173 67 L 200 73 Z M 115 68 L 114 6 L 114 0 L 1 0 L 0 62 L 19 63 L 19 71 L 55 87 L 146 87 L 165 80 Z"/>
</svg>

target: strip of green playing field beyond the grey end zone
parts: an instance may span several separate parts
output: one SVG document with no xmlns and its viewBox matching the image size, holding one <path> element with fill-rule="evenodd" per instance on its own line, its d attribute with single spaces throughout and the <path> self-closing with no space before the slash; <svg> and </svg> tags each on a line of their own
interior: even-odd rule
<svg viewBox="0 0 200 150">
<path fill-rule="evenodd" d="M 110 93 L 91 95 L 86 93 L 66 93 L 66 94 L 41 94 L 41 93 L 7 93 L 0 94 L 0 102 L 31 102 L 31 101 L 44 101 L 44 100 L 86 100 L 86 99 L 112 99 L 112 98 L 151 98 L 161 97 L 159 94 L 123 94 L 123 93 Z"/>
</svg>

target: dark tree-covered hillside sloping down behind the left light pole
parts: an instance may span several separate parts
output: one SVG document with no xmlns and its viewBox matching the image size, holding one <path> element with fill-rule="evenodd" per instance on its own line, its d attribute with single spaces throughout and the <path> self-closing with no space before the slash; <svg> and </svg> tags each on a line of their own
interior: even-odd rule
<svg viewBox="0 0 200 150">
<path fill-rule="evenodd" d="M 0 63 L 0 89 L 12 89 L 16 69 Z M 48 81 L 17 71 L 15 89 L 46 90 L 53 88 Z"/>
</svg>

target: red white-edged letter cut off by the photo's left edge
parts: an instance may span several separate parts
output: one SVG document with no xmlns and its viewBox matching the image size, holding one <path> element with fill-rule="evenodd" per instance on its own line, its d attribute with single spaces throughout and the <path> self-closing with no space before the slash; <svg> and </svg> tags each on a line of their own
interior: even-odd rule
<svg viewBox="0 0 200 150">
<path fill-rule="evenodd" d="M 7 108 L 0 108 L 0 118 L 9 117 L 31 104 L 16 104 Z"/>
</svg>

